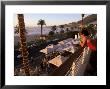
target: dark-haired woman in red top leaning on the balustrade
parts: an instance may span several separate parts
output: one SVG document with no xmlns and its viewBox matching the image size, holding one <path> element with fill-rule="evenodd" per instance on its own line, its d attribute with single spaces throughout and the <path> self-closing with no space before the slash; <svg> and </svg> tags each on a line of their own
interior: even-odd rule
<svg viewBox="0 0 110 89">
<path fill-rule="evenodd" d="M 80 33 L 80 45 L 81 47 L 89 47 L 91 50 L 90 55 L 90 65 L 93 68 L 92 73 L 96 75 L 97 73 L 97 39 L 92 39 L 89 37 L 89 32 L 86 28 L 83 28 Z"/>
</svg>

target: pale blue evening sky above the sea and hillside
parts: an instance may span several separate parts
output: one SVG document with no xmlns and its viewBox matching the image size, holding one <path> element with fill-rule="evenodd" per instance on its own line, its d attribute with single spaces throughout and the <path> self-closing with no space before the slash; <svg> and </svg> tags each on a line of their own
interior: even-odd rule
<svg viewBox="0 0 110 89">
<path fill-rule="evenodd" d="M 85 15 L 85 17 L 88 14 Z M 24 14 L 26 27 L 38 26 L 38 20 L 45 20 L 46 26 L 62 25 L 81 20 L 81 14 Z M 18 24 L 17 14 L 14 14 L 14 26 Z"/>
</svg>

